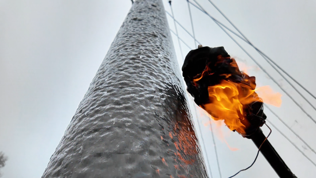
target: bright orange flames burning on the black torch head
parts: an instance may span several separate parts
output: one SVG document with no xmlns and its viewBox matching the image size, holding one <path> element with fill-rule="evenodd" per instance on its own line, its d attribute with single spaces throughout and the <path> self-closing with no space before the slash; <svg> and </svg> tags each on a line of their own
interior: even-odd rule
<svg viewBox="0 0 316 178">
<path fill-rule="evenodd" d="M 219 62 L 221 56 L 219 56 Z M 239 72 L 238 66 L 234 58 L 231 63 L 232 67 Z M 211 69 L 208 65 L 205 67 L 201 74 L 198 74 L 193 79 L 193 84 L 198 86 L 198 81 L 206 75 L 212 75 Z M 224 120 L 224 123 L 230 130 L 236 130 L 241 134 L 245 134 L 245 129 L 249 126 L 246 113 L 244 109 L 246 105 L 256 101 L 265 102 L 277 107 L 281 106 L 281 94 L 274 93 L 269 86 L 264 86 L 255 89 L 254 77 L 249 77 L 246 73 L 242 73 L 243 80 L 240 82 L 234 82 L 230 79 L 232 74 L 220 74 L 225 76 L 219 84 L 215 86 L 209 86 L 209 102 L 200 105 L 205 111 L 207 111 L 214 120 Z M 260 95 L 260 98 L 258 94 Z"/>
</svg>

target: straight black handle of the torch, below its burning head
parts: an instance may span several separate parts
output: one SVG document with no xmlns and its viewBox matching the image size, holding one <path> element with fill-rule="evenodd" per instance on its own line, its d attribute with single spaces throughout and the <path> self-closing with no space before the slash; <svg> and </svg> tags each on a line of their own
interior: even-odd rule
<svg viewBox="0 0 316 178">
<path fill-rule="evenodd" d="M 252 141 L 255 143 L 255 145 L 259 148 L 260 145 L 263 143 L 264 139 L 266 137 L 264 136 L 262 130 L 259 128 L 254 134 L 252 134 Z M 276 152 L 276 150 L 273 148 L 273 146 L 270 144 L 268 140 L 266 140 L 261 149 L 260 152 L 263 154 L 265 159 L 270 163 L 271 167 L 276 171 L 276 174 L 280 178 L 297 178 L 289 169 L 289 167 L 285 164 L 285 162 L 282 160 L 282 158 L 279 156 L 279 154 Z"/>
</svg>

